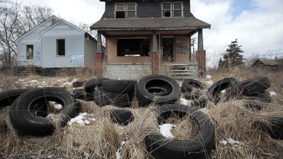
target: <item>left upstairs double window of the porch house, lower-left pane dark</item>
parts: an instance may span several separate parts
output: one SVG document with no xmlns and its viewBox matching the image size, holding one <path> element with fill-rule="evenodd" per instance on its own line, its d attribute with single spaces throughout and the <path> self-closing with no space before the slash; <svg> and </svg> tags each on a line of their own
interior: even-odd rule
<svg viewBox="0 0 283 159">
<path fill-rule="evenodd" d="M 116 3 L 116 18 L 136 18 L 136 3 Z"/>
</svg>

